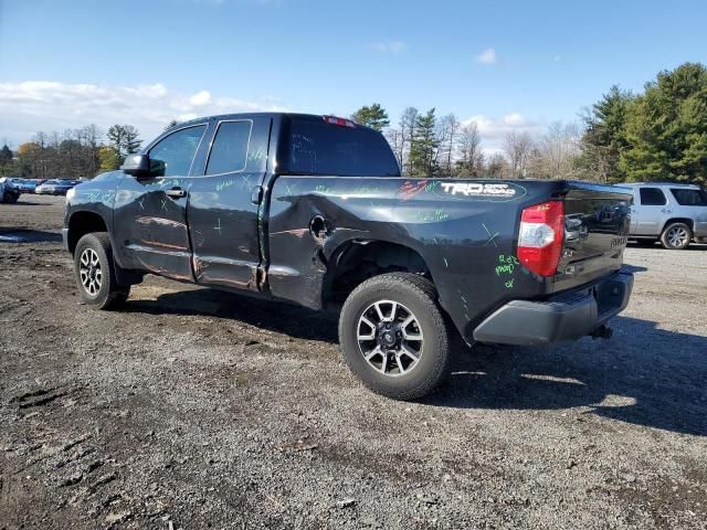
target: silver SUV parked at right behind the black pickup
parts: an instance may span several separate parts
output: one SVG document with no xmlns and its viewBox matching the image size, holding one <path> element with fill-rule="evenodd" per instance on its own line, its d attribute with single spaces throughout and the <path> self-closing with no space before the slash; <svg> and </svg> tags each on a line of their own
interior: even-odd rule
<svg viewBox="0 0 707 530">
<path fill-rule="evenodd" d="M 629 239 L 665 248 L 707 242 L 707 192 L 695 184 L 631 182 L 618 184 L 633 193 Z"/>
</svg>

